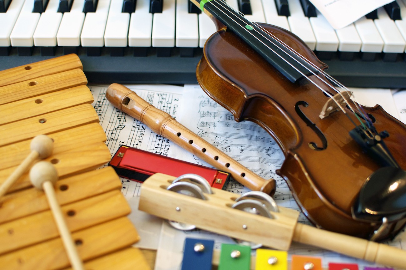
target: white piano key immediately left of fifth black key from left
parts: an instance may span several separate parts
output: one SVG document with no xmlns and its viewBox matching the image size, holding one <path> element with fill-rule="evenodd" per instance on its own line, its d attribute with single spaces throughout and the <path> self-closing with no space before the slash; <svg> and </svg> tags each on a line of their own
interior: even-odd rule
<svg viewBox="0 0 406 270">
<path fill-rule="evenodd" d="M 126 47 L 130 13 L 121 12 L 123 0 L 111 0 L 108 11 L 106 31 L 104 32 L 104 46 Z"/>
</svg>

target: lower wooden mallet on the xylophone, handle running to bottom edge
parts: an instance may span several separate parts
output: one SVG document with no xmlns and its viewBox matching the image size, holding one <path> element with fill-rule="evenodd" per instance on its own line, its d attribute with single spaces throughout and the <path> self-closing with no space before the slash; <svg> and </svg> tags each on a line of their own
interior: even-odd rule
<svg viewBox="0 0 406 270">
<path fill-rule="evenodd" d="M 54 183 L 58 180 L 58 173 L 54 165 L 48 161 L 35 163 L 30 170 L 30 181 L 37 189 L 44 190 L 50 209 L 54 216 L 59 234 L 65 246 L 71 266 L 74 270 L 84 270 L 83 262 L 79 257 L 78 250 L 73 242 L 72 235 L 67 227 L 65 218 L 58 201 L 56 200 Z"/>
</svg>

